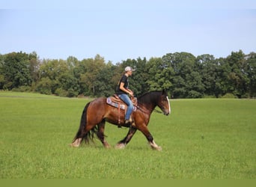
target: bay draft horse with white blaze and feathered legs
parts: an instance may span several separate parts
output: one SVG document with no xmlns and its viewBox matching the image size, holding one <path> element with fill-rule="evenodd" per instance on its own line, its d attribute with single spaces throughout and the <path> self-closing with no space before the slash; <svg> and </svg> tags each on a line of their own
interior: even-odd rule
<svg viewBox="0 0 256 187">
<path fill-rule="evenodd" d="M 106 135 L 104 135 L 105 123 L 107 121 L 116 126 L 129 127 L 127 136 L 119 141 L 115 148 L 122 149 L 126 147 L 138 129 L 147 138 L 152 149 L 162 150 L 162 147 L 158 146 L 153 140 L 153 136 L 147 129 L 147 124 L 150 121 L 150 115 L 156 110 L 156 106 L 162 110 L 159 111 L 160 113 L 165 115 L 171 113 L 171 105 L 165 91 L 151 91 L 139 96 L 137 99 L 138 105 L 135 106 L 137 109 L 132 111 L 131 114 L 132 124 L 130 126 L 126 126 L 124 123 L 124 111 L 120 114 L 120 108 L 107 104 L 106 99 L 106 97 L 99 97 L 85 105 L 82 111 L 79 130 L 70 144 L 71 147 L 79 147 L 83 140 L 85 143 L 93 141 L 94 134 L 96 134 L 103 146 L 110 148 L 111 146 L 105 138 Z M 118 113 L 120 114 L 119 116 Z"/>
</svg>

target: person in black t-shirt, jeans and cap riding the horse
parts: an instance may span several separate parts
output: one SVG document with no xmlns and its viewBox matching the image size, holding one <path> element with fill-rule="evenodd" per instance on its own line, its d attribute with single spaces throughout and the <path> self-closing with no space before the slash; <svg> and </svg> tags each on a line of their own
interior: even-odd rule
<svg viewBox="0 0 256 187">
<path fill-rule="evenodd" d="M 132 67 L 126 67 L 124 69 L 124 75 L 121 77 L 118 83 L 117 91 L 116 91 L 116 94 L 120 97 L 120 99 L 122 99 L 127 104 L 127 113 L 125 114 L 125 117 L 124 117 L 124 123 L 128 126 L 130 125 L 129 118 L 133 110 L 132 101 L 131 99 L 129 99 L 129 96 L 133 96 L 133 92 L 128 88 L 129 87 L 128 77 L 132 76 L 133 71 L 135 70 L 133 70 Z"/>
</svg>

